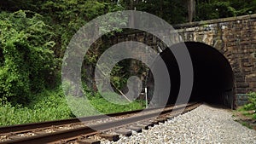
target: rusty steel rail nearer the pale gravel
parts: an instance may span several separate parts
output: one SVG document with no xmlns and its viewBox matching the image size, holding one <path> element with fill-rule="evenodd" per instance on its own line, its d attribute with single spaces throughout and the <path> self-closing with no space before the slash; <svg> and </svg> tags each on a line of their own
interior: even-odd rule
<svg viewBox="0 0 256 144">
<path fill-rule="evenodd" d="M 122 125 L 132 124 L 137 121 L 144 120 L 144 119 L 154 118 L 154 117 L 158 116 L 159 114 L 166 114 L 168 112 L 178 112 L 179 110 L 182 110 L 183 108 L 185 108 L 184 112 L 186 112 L 189 107 L 198 107 L 199 105 L 200 104 L 198 104 L 198 103 L 193 103 L 193 104 L 188 104 L 188 105 L 185 105 L 182 107 L 172 107 L 172 108 L 168 108 L 167 110 L 164 110 L 162 112 L 151 112 L 151 113 L 146 113 L 143 115 L 135 115 L 135 116 L 131 116 L 129 118 L 113 120 L 113 121 L 103 123 L 103 124 L 94 124 L 94 125 L 89 125 L 89 126 L 83 126 L 83 127 L 79 127 L 79 128 L 75 128 L 75 129 L 71 129 L 71 130 L 61 130 L 61 131 L 57 131 L 54 133 L 43 134 L 43 135 L 34 135 L 34 136 L 30 136 L 30 137 L 20 138 L 17 140 L 3 141 L 0 143 L 19 143 L 19 144 L 24 143 L 24 144 L 27 144 L 27 143 L 49 143 L 52 141 L 61 141 L 63 139 L 68 139 L 68 138 L 72 138 L 72 137 L 79 136 L 79 135 L 95 134 L 95 133 L 97 133 L 97 130 L 109 130 L 109 129 L 112 129 L 115 127 L 120 127 Z"/>
</svg>

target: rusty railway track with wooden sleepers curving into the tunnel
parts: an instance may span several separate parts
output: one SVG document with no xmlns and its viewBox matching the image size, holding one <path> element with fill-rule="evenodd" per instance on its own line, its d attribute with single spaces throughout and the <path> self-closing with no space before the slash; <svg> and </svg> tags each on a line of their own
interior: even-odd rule
<svg viewBox="0 0 256 144">
<path fill-rule="evenodd" d="M 99 143 L 101 138 L 117 141 L 119 135 L 129 136 L 131 130 L 148 129 L 148 126 L 177 116 L 184 108 L 183 112 L 188 112 L 199 105 L 189 103 L 177 107 L 148 108 L 143 112 L 112 113 L 108 118 L 98 115 L 0 127 L 0 143 Z"/>
</svg>

